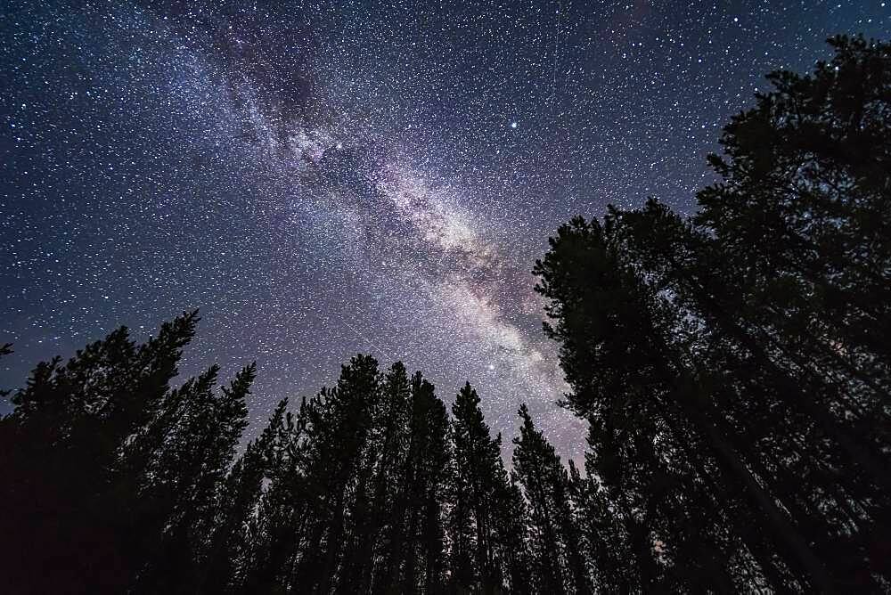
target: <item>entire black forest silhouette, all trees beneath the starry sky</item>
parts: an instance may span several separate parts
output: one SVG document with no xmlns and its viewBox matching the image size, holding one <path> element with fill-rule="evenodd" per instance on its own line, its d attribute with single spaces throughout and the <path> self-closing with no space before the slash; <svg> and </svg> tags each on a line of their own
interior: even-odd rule
<svg viewBox="0 0 891 595">
<path fill-rule="evenodd" d="M 891 45 L 830 44 L 693 215 L 576 217 L 535 264 L 584 469 L 525 406 L 505 465 L 470 384 L 368 355 L 239 448 L 256 367 L 174 386 L 187 313 L 12 394 L 4 592 L 891 590 Z"/>
</svg>

